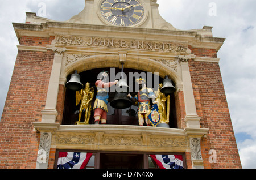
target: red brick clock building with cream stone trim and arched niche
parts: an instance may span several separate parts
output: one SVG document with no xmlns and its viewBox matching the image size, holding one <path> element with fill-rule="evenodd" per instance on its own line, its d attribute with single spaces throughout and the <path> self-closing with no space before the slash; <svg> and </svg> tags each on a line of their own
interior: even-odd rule
<svg viewBox="0 0 256 180">
<path fill-rule="evenodd" d="M 13 23 L 19 45 L 0 122 L 0 168 L 57 168 L 63 152 L 92 153 L 87 168 L 158 168 L 152 154 L 179 155 L 188 169 L 241 168 L 217 57 L 225 39 L 212 27 L 180 31 L 156 0 L 85 0 L 66 22 L 26 14 L 26 23 Z M 76 92 L 65 87 L 71 74 L 94 86 L 99 72 L 117 74 L 121 62 L 126 74 L 170 77 L 167 127 L 138 126 L 136 114 L 109 104 L 107 125 L 93 115 L 75 125 Z"/>
</svg>

